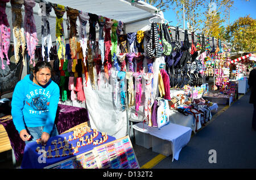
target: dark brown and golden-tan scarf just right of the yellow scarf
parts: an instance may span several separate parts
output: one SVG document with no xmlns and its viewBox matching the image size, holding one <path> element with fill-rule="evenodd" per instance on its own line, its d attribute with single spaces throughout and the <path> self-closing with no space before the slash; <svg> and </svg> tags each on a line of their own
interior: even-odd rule
<svg viewBox="0 0 256 180">
<path fill-rule="evenodd" d="M 75 58 L 77 53 L 77 45 L 76 45 L 76 35 L 77 35 L 77 28 L 76 28 L 76 20 L 77 16 L 79 15 L 79 11 L 75 10 L 71 7 L 67 7 L 67 19 L 68 19 L 68 30 L 69 30 L 69 45 L 70 45 L 70 54 L 71 59 Z"/>
</svg>

